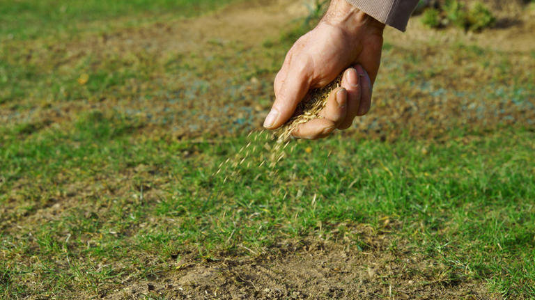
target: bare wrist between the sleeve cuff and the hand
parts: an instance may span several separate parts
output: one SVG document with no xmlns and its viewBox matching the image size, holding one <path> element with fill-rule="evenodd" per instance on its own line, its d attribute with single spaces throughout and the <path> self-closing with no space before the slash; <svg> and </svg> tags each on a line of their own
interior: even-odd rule
<svg viewBox="0 0 535 300">
<path fill-rule="evenodd" d="M 346 0 L 332 0 L 321 21 L 338 26 L 350 34 L 366 29 L 369 33 L 382 35 L 385 29 L 385 24 L 373 19 Z"/>
</svg>

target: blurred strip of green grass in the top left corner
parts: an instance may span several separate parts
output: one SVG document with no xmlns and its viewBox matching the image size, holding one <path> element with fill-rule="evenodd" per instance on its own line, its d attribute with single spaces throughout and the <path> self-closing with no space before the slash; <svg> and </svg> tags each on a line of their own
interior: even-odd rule
<svg viewBox="0 0 535 300">
<path fill-rule="evenodd" d="M 162 17 L 192 17 L 232 0 L 75 0 L 61 1 L 0 1 L 0 40 L 26 40 L 40 38 L 43 34 L 73 34 L 87 30 L 113 27 L 111 19 L 119 24 L 137 24 L 162 21 Z M 102 22 L 107 24 L 102 24 Z M 100 24 L 99 24 L 100 23 Z M 103 28 L 104 27 L 104 28 Z"/>
</svg>

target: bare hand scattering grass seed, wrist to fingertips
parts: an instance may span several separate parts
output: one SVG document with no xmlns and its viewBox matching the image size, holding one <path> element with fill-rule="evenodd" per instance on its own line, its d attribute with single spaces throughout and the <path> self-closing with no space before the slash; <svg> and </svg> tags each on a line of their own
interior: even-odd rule
<svg viewBox="0 0 535 300">
<path fill-rule="evenodd" d="M 371 106 L 371 86 L 380 64 L 384 28 L 384 24 L 346 0 L 332 0 L 318 26 L 297 40 L 286 55 L 275 77 L 276 100 L 264 127 L 277 129 L 286 123 L 309 89 L 327 85 L 340 72 L 355 64 L 359 65 L 344 74 L 343 90 L 332 93 L 337 97 L 329 97 L 322 112 L 325 119 L 300 125 L 293 135 L 307 139 L 327 136 L 335 128 L 350 127 L 355 116 L 367 113 Z M 362 70 L 360 74 L 359 70 Z M 345 107 L 338 104 L 335 111 L 333 101 L 336 102 L 336 99 L 345 102 Z"/>
</svg>

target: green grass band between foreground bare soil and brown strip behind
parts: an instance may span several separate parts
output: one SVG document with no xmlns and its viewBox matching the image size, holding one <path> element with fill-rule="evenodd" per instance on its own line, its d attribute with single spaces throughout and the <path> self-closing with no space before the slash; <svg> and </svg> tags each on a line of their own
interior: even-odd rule
<svg viewBox="0 0 535 300">
<path fill-rule="evenodd" d="M 277 176 L 244 164 L 224 183 L 212 173 L 245 139 L 147 141 L 132 136 L 137 126 L 94 112 L 66 132 L 49 129 L 1 148 L 3 193 L 13 182 L 28 182 L 17 190 L 27 198 L 3 216 L 4 225 L 53 205 L 73 182 L 91 187 L 38 227 L 24 222 L 1 233 L 4 295 L 31 294 L 24 283 L 31 278 L 43 281 L 43 290 L 33 290 L 42 295 L 98 293 L 121 274 L 164 271 L 185 251 L 199 258 L 242 253 L 240 246 L 262 251 L 281 236 L 329 235 L 342 222 L 380 227 L 385 217 L 401 224 L 397 235 L 446 265 L 451 281 L 481 278 L 506 295 L 533 295 L 533 132 L 467 134 L 444 143 L 302 142 L 276 166 Z M 185 158 L 185 151 L 195 154 Z M 17 259 L 23 257 L 37 263 Z M 109 265 L 98 267 L 100 261 Z"/>
</svg>

